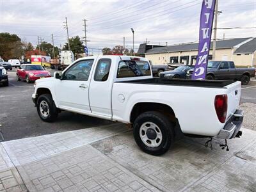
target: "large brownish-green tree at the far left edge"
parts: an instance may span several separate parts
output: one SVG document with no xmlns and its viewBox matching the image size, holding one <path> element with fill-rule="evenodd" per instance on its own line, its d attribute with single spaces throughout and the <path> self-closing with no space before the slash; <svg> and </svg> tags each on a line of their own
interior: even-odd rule
<svg viewBox="0 0 256 192">
<path fill-rule="evenodd" d="M 19 59 L 22 55 L 22 42 L 19 36 L 0 33 L 0 56 L 4 60 Z"/>
</svg>

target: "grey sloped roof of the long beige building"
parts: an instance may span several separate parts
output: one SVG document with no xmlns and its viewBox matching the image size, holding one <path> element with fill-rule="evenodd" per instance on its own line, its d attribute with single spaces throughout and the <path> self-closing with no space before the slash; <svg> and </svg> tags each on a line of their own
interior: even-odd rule
<svg viewBox="0 0 256 192">
<path fill-rule="evenodd" d="M 228 40 L 218 40 L 218 41 L 216 41 L 216 49 L 225 49 L 225 48 L 235 47 L 236 45 L 242 44 L 243 42 L 245 42 L 246 40 L 249 40 L 249 39 L 250 38 L 232 38 L 232 39 L 228 39 Z M 252 41 L 255 42 L 255 38 Z M 250 41 L 250 42 L 252 42 L 252 41 Z M 250 43 L 250 42 L 247 42 L 246 44 L 249 44 L 250 47 L 252 47 L 251 49 L 254 49 L 254 51 L 255 51 L 256 44 L 254 44 L 254 46 L 253 46 L 253 42 L 252 43 Z M 246 47 L 246 44 L 243 44 L 240 47 Z M 212 49 L 212 43 L 211 43 L 211 49 Z M 246 48 L 244 48 L 244 49 L 246 49 Z M 146 51 L 146 54 L 155 54 L 155 53 L 162 53 L 162 52 L 196 51 L 196 50 L 198 50 L 198 43 L 179 44 L 179 45 L 170 45 L 167 47 L 166 46 L 153 47 L 153 49 L 149 49 L 148 51 Z M 254 51 L 252 51 L 252 52 L 254 52 Z"/>
</svg>

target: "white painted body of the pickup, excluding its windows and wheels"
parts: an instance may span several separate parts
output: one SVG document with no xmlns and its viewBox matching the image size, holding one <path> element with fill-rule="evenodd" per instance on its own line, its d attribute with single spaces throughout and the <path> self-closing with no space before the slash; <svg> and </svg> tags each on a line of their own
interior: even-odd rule
<svg viewBox="0 0 256 192">
<path fill-rule="evenodd" d="M 76 60 L 62 74 L 68 72 L 69 68 L 79 61 L 93 60 L 88 81 L 70 81 L 54 77 L 38 79 L 32 96 L 33 100 L 36 103 L 38 93 L 42 92 L 42 89 L 47 89 L 58 109 L 125 124 L 133 123 L 132 111 L 137 104 L 163 104 L 172 109 L 184 134 L 200 136 L 220 135 L 230 118 L 237 113 L 241 97 L 239 81 L 226 82 L 227 85 L 224 84 L 224 86 L 216 86 L 216 84 L 223 84 L 220 81 L 216 81 L 215 85 L 214 82 L 205 81 L 202 83 L 206 85 L 198 86 L 196 84 L 200 82 L 195 80 L 176 79 L 161 82 L 152 77 L 152 72 L 149 76 L 118 78 L 118 63 L 134 58 L 148 63 L 146 58 L 130 56 L 90 56 Z M 95 81 L 96 65 L 101 60 L 111 60 L 108 79 Z M 147 68 L 146 65 L 143 67 Z M 150 67 L 149 64 L 148 67 Z M 183 81 L 185 83 L 188 81 L 188 85 L 182 84 Z M 220 122 L 216 114 L 216 107 L 214 107 L 216 95 L 227 95 L 227 115 L 224 122 Z M 237 116 L 243 116 L 243 114 L 239 113 Z M 240 124 L 237 125 L 239 126 L 241 127 Z M 232 130 L 232 134 L 234 131 L 236 130 Z M 228 137 L 231 137 L 231 133 Z"/>
</svg>

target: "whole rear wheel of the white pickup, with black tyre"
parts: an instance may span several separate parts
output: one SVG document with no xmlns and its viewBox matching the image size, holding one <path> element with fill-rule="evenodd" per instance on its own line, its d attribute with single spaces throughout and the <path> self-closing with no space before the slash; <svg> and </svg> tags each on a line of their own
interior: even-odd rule
<svg viewBox="0 0 256 192">
<path fill-rule="evenodd" d="M 141 150 L 147 154 L 160 156 L 173 143 L 173 125 L 162 113 L 148 111 L 134 121 L 133 136 Z"/>
</svg>

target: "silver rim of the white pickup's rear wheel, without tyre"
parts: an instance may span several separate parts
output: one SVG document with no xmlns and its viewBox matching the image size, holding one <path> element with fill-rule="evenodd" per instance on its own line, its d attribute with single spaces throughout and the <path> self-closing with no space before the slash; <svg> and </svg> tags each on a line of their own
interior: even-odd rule
<svg viewBox="0 0 256 192">
<path fill-rule="evenodd" d="M 158 147 L 163 140 L 163 135 L 156 124 L 145 122 L 140 127 L 140 138 L 148 147 Z"/>
</svg>

